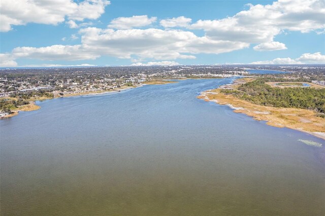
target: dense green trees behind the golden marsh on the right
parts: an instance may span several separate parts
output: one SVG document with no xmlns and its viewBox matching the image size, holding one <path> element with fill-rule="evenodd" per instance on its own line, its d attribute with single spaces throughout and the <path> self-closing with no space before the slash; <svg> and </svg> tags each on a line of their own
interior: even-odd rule
<svg viewBox="0 0 325 216">
<path fill-rule="evenodd" d="M 257 79 L 238 87 L 238 90 L 222 90 L 258 105 L 295 107 L 314 110 L 325 117 L 325 88 L 272 88 L 265 79 Z"/>
</svg>

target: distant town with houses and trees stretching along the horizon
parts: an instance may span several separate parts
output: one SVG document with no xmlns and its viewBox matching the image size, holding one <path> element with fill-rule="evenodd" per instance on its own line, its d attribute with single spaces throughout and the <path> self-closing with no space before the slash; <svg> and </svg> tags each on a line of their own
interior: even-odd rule
<svg viewBox="0 0 325 216">
<path fill-rule="evenodd" d="M 261 75 L 254 69 L 287 71 Z M 177 65 L 8 68 L 0 73 L 0 118 L 37 98 L 119 91 L 157 80 L 276 77 L 325 86 L 325 65 Z"/>
</svg>

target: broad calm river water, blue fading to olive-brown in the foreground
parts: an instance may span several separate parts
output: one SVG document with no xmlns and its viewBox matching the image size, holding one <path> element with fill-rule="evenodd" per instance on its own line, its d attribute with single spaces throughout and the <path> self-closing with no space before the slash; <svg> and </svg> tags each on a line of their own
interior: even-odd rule
<svg viewBox="0 0 325 216">
<path fill-rule="evenodd" d="M 323 215 L 323 140 L 197 99 L 232 79 L 57 98 L 1 124 L 2 215 Z"/>
</svg>

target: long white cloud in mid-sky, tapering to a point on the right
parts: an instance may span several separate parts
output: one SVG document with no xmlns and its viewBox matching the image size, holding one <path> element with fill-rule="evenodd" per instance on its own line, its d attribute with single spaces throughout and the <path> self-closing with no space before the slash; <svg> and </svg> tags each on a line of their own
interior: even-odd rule
<svg viewBox="0 0 325 216">
<path fill-rule="evenodd" d="M 190 31 L 172 29 L 113 30 L 89 27 L 81 29 L 79 33 L 82 34 L 85 49 L 119 58 L 193 59 L 196 57 L 190 54 L 218 54 L 249 46 L 242 42 L 213 41 L 197 37 Z"/>
</svg>

